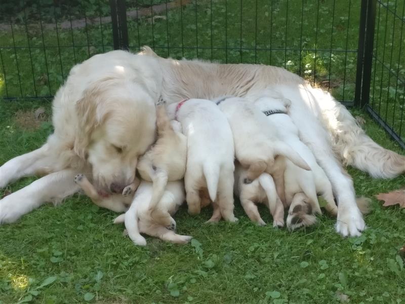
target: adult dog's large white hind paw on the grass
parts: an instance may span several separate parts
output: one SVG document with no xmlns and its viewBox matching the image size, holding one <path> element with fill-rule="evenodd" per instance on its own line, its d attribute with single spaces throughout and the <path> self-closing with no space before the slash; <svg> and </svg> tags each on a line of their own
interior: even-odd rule
<svg viewBox="0 0 405 304">
<path fill-rule="evenodd" d="M 343 237 L 358 237 L 366 229 L 366 223 L 357 208 L 338 210 L 336 232 Z"/>
</svg>

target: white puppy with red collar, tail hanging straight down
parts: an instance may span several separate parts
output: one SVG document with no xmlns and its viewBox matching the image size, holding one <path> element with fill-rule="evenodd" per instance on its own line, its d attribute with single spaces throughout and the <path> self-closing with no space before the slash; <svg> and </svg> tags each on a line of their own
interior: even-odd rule
<svg viewBox="0 0 405 304">
<path fill-rule="evenodd" d="M 232 131 L 219 108 L 206 99 L 188 99 L 168 106 L 168 115 L 178 120 L 187 136 L 187 167 L 184 175 L 188 212 L 198 214 L 201 193 L 207 189 L 214 213 L 209 222 L 223 217 L 234 222 Z"/>
</svg>

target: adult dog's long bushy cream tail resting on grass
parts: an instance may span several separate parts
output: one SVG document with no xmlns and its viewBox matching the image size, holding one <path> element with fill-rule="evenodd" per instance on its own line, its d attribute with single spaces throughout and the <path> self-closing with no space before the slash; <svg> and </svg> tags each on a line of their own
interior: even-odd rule
<svg viewBox="0 0 405 304">
<path fill-rule="evenodd" d="M 392 178 L 405 173 L 405 156 L 374 142 L 331 94 L 310 87 L 306 89 L 321 109 L 323 123 L 333 136 L 335 153 L 345 165 L 366 171 L 375 178 Z"/>
</svg>

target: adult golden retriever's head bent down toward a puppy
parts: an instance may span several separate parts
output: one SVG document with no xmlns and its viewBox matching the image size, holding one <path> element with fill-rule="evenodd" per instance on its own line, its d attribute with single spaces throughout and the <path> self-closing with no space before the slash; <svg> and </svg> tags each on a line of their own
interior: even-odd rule
<svg viewBox="0 0 405 304">
<path fill-rule="evenodd" d="M 131 81 L 105 78 L 84 92 L 76 112 L 76 154 L 92 165 L 98 191 L 121 193 L 154 141 L 154 100 Z"/>
</svg>

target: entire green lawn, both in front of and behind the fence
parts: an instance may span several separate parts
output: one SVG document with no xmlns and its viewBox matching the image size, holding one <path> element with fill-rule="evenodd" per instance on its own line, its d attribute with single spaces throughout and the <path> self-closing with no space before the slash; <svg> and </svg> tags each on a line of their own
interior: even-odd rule
<svg viewBox="0 0 405 304">
<path fill-rule="evenodd" d="M 182 9 L 153 20 L 147 15 L 129 18 L 131 50 L 149 45 L 165 57 L 282 66 L 330 87 L 338 99 L 353 100 L 356 53 L 350 50 L 357 49 L 359 0 L 183 2 Z M 133 3 L 127 2 L 129 10 L 147 6 L 146 0 L 140 7 Z M 405 7 L 402 0 L 386 5 L 398 14 Z M 103 2 L 83 6 L 90 19 L 108 15 Z M 53 14 L 58 20 L 83 17 L 82 10 L 63 6 L 54 12 L 35 7 L 25 14 L 28 24 L 41 20 L 44 26 L 54 22 Z M 27 35 L 18 21 L 24 12 L 17 17 L 13 31 L 0 31 L 0 96 L 53 95 L 75 62 L 112 49 L 111 23 L 58 32 L 32 25 Z M 400 24 L 392 28 L 395 19 L 384 8 L 377 18 L 376 55 L 391 60 L 392 72 L 401 79 Z M 404 86 L 387 75 L 382 64 L 373 69 L 373 107 L 389 123 L 392 118 L 399 132 Z M 33 112 L 39 107 L 45 113 L 36 119 Z M 366 119 L 365 129 L 374 140 L 404 153 L 369 116 L 353 113 Z M 49 100 L 0 97 L 0 164 L 44 143 L 52 132 L 50 116 Z M 269 224 L 258 227 L 236 202 L 236 224 L 204 225 L 210 209 L 191 217 L 182 208 L 176 216 L 178 232 L 193 236 L 191 244 L 147 238 L 147 247 L 140 248 L 122 236 L 123 226 L 112 224 L 116 214 L 84 196 L 75 195 L 56 208 L 44 206 L 0 226 L 0 304 L 339 303 L 346 296 L 353 303 L 404 302 L 405 271 L 398 250 L 405 244 L 405 209 L 382 207 L 374 196 L 403 187 L 405 176 L 379 180 L 352 168 L 349 173 L 357 195 L 373 200 L 368 229 L 360 238 L 342 239 L 334 231 L 335 219 L 326 215 L 306 230 L 273 229 L 265 208 L 260 211 Z M 33 180 L 22 179 L 5 191 Z"/>
</svg>

